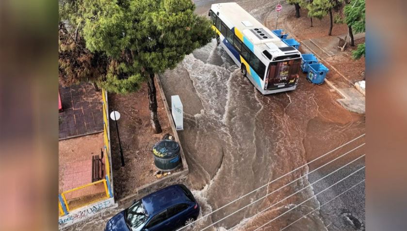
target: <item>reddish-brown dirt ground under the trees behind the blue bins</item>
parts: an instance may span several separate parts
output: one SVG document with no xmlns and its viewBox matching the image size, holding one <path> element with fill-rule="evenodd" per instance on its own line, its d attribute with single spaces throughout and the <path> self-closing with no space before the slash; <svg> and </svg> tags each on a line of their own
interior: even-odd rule
<svg viewBox="0 0 407 231">
<path fill-rule="evenodd" d="M 313 27 L 310 27 L 311 22 L 309 17 L 307 17 L 307 14 L 308 14 L 307 10 L 301 9 L 300 10 L 301 17 L 296 18 L 294 14 L 290 14 L 285 20 L 285 24 L 300 41 L 306 39 L 317 39 L 317 38 L 320 39 L 322 37 L 326 38 L 331 37 L 332 39 L 338 40 L 336 36 L 348 33 L 348 28 L 346 24 L 334 23 L 332 35 L 328 36 L 329 15 L 326 15 L 321 20 L 313 18 Z M 341 74 L 344 75 L 352 83 L 355 83 L 363 79 L 361 73 L 362 71 L 365 70 L 365 58 L 362 57 L 359 60 L 352 59 L 352 51 L 357 48 L 358 44 L 364 42 L 365 42 L 364 38 L 355 40 L 355 46 L 347 45 L 345 51 L 341 52 L 339 55 L 326 58 L 327 62 L 329 62 L 336 69 L 338 69 L 341 72 Z"/>
</svg>

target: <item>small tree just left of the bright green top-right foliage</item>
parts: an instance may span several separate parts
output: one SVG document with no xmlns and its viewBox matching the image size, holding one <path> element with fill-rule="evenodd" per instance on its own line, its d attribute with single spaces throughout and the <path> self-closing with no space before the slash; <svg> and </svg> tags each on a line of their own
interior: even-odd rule
<svg viewBox="0 0 407 231">
<path fill-rule="evenodd" d="M 318 19 L 324 18 L 329 14 L 329 31 L 328 35 L 332 35 L 333 28 L 333 13 L 332 10 L 338 10 L 342 4 L 342 0 L 313 0 L 307 5 L 308 16 Z"/>
</svg>

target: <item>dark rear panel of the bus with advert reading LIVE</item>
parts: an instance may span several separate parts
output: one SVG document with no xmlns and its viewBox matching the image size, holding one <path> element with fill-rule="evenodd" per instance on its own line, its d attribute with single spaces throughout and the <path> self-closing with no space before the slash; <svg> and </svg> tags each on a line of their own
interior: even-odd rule
<svg viewBox="0 0 407 231">
<path fill-rule="evenodd" d="M 296 83 L 301 64 L 301 58 L 271 62 L 267 76 L 267 90 L 289 87 Z"/>
</svg>

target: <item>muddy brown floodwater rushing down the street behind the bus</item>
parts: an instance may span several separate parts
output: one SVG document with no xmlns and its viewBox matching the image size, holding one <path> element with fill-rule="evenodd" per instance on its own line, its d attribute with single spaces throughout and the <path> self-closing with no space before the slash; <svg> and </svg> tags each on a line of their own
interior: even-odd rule
<svg viewBox="0 0 407 231">
<path fill-rule="evenodd" d="M 243 1 L 241 5 L 260 21 L 275 5 L 274 1 L 253 2 Z M 197 11 L 207 12 L 205 2 L 199 3 Z M 293 92 L 261 95 L 223 48 L 216 46 L 215 40 L 186 56 L 176 69 L 160 79 L 166 97 L 179 94 L 183 102 L 185 130 L 179 137 L 190 169 L 188 184 L 202 206 L 203 215 L 364 133 L 361 116 L 341 108 L 335 103 L 338 95 L 325 85 L 309 84 L 304 76 Z M 308 170 L 294 172 L 188 230 L 199 231 Z M 207 230 L 235 226 L 234 230 L 254 230 L 293 204 L 313 196 L 313 187 L 274 206 L 261 217 L 247 217 L 309 184 L 307 178 L 298 181 Z M 310 200 L 288 217 L 306 214 L 319 204 L 317 199 Z M 280 230 L 287 220 L 282 217 L 263 230 Z M 293 230 L 327 230 L 322 216 L 301 222 L 302 228 Z"/>
</svg>

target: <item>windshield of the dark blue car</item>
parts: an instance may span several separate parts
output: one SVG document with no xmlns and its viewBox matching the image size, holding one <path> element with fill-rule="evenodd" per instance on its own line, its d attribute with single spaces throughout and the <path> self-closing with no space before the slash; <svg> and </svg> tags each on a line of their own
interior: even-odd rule
<svg viewBox="0 0 407 231">
<path fill-rule="evenodd" d="M 141 200 L 126 210 L 126 222 L 132 231 L 140 231 L 148 219 L 146 208 Z"/>
</svg>

